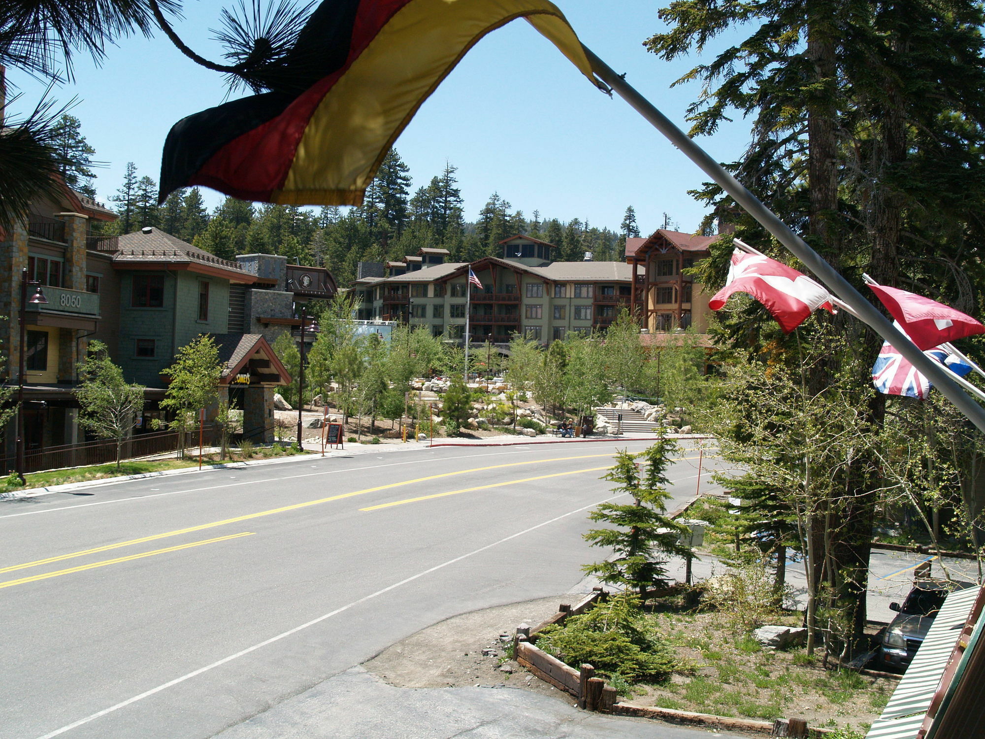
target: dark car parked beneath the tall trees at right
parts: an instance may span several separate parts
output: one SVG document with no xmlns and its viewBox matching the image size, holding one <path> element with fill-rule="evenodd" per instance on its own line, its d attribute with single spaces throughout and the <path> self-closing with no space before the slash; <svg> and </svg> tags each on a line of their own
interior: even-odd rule
<svg viewBox="0 0 985 739">
<path fill-rule="evenodd" d="M 944 605 L 944 599 L 954 590 L 963 590 L 966 587 L 973 587 L 973 583 L 959 580 L 915 580 L 902 605 L 889 604 L 889 608 L 899 615 L 883 632 L 877 668 L 905 670 L 927 637 L 934 618 Z"/>
</svg>

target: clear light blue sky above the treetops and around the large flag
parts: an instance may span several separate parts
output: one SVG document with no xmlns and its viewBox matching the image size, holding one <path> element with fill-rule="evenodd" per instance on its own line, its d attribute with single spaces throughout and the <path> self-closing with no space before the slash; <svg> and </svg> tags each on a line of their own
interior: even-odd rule
<svg viewBox="0 0 985 739">
<path fill-rule="evenodd" d="M 216 61 L 222 61 L 221 48 L 209 29 L 218 27 L 223 4 L 189 0 L 185 20 L 176 25 L 192 48 Z M 642 47 L 662 28 L 657 10 L 664 4 L 558 2 L 589 48 L 683 126 L 699 86 L 670 86 L 697 59 L 667 63 Z M 24 93 L 16 107 L 26 111 L 43 87 L 16 71 L 9 79 Z M 119 186 L 127 162 L 157 179 L 170 126 L 225 95 L 222 76 L 182 56 L 164 34 L 120 40 L 101 66 L 79 57 L 74 83 L 52 93 L 62 102 L 79 99 L 72 113 L 82 120 L 97 159 L 107 164 L 96 181 L 103 200 Z M 748 138 L 749 127 L 739 119 L 701 145 L 728 162 L 741 155 Z M 396 148 L 415 188 L 445 161 L 457 167 L 468 220 L 493 191 L 528 218 L 538 210 L 542 217 L 580 218 L 612 229 L 619 228 L 627 205 L 636 209 L 644 232 L 659 228 L 665 212 L 683 231 L 696 229 L 704 215 L 688 195 L 704 179 L 697 168 L 624 101 L 596 91 L 522 20 L 489 34 L 466 55 Z M 205 188 L 203 193 L 210 206 L 222 199 Z"/>
</svg>

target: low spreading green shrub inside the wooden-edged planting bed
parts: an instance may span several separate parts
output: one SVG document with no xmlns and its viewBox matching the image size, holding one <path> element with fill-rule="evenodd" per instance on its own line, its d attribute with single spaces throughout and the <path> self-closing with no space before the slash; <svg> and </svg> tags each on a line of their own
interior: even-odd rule
<svg viewBox="0 0 985 739">
<path fill-rule="evenodd" d="M 653 618 L 640 610 L 639 599 L 627 593 L 543 634 L 538 646 L 572 667 L 587 662 L 629 683 L 663 680 L 683 667 L 673 648 L 657 634 Z"/>
</svg>

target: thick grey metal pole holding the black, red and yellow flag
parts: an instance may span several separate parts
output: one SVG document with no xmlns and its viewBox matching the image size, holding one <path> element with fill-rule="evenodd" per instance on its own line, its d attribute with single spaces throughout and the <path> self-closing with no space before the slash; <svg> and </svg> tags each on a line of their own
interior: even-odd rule
<svg viewBox="0 0 985 739">
<path fill-rule="evenodd" d="M 775 236 L 794 256 L 800 259 L 821 280 L 821 283 L 827 287 L 829 292 L 834 293 L 835 297 L 853 310 L 860 320 L 868 324 L 876 333 L 895 347 L 913 367 L 923 372 L 924 376 L 933 382 L 944 393 L 945 397 L 979 431 L 985 433 L 985 409 L 961 391 L 958 383 L 952 377 L 948 376 L 949 374 L 953 374 L 951 370 L 946 370 L 935 360 L 927 357 L 903 333 L 896 330 L 875 305 L 863 298 L 852 287 L 851 283 L 838 274 L 830 264 L 821 259 L 818 252 L 812 249 L 803 238 L 794 234 L 752 192 L 718 164 L 718 162 L 708 156 L 707 152 L 695 144 L 670 118 L 660 112 L 650 101 L 647 101 L 633 89 L 625 81 L 624 76 L 613 71 L 612 67 L 602 61 L 588 47 L 583 45 L 582 48 L 588 57 L 589 63 L 592 65 L 592 70 L 600 80 L 609 85 L 636 112 L 646 118 L 654 128 L 666 136 L 675 147 L 680 149 L 691 162 L 717 182 L 766 231 Z"/>
</svg>

